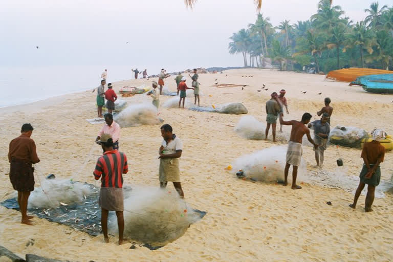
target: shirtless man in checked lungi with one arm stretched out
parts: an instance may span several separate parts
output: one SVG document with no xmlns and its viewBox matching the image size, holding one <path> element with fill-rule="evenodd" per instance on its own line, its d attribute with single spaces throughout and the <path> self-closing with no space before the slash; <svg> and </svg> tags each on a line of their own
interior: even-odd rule
<svg viewBox="0 0 393 262">
<path fill-rule="evenodd" d="M 284 121 L 282 119 L 283 114 L 280 114 L 280 124 L 282 125 L 292 125 L 291 138 L 289 140 L 288 150 L 287 150 L 287 164 L 284 170 L 284 186 L 288 184 L 288 171 L 289 167 L 292 165 L 292 189 L 300 189 L 301 186 L 296 185 L 297 178 L 297 168 L 300 165 L 301 155 L 303 149 L 301 148 L 301 142 L 304 135 L 307 135 L 307 139 L 314 145 L 314 149 L 318 148 L 318 145 L 313 141 L 310 136 L 310 129 L 307 124 L 310 122 L 311 114 L 304 113 L 301 117 L 301 121 L 291 120 Z"/>
</svg>

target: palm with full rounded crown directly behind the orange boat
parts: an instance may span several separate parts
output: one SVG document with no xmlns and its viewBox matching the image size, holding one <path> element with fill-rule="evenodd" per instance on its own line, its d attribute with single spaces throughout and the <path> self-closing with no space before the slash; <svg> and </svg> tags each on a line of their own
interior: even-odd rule
<svg viewBox="0 0 393 262">
<path fill-rule="evenodd" d="M 353 28 L 352 34 L 347 38 L 348 48 L 358 47 L 360 49 L 360 59 L 362 68 L 364 67 L 363 50 L 366 50 L 369 54 L 374 52 L 373 46 L 376 45 L 375 38 L 370 29 L 367 29 L 364 21 L 356 23 Z M 345 49 L 343 50 L 343 52 Z"/>
</svg>

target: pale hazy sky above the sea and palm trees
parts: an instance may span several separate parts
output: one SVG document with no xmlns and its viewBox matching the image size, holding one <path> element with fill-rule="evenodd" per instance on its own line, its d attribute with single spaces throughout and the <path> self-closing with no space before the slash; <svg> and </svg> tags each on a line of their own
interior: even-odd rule
<svg viewBox="0 0 393 262">
<path fill-rule="evenodd" d="M 333 2 L 356 21 L 372 1 Z M 295 23 L 317 3 L 264 0 L 261 12 L 274 26 Z M 228 38 L 255 17 L 252 0 L 200 0 L 193 10 L 183 0 L 2 0 L 0 67 L 138 67 L 156 74 L 162 67 L 237 66 L 242 58 L 228 54 Z"/>
</svg>

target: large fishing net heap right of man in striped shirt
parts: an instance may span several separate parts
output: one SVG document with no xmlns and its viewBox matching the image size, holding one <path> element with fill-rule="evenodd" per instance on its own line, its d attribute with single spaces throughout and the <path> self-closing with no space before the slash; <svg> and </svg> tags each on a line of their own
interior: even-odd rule
<svg viewBox="0 0 393 262">
<path fill-rule="evenodd" d="M 205 212 L 192 209 L 176 190 L 158 187 L 123 187 L 124 237 L 163 246 L 181 237 Z M 108 232 L 118 234 L 116 215 L 109 217 Z"/>
</svg>

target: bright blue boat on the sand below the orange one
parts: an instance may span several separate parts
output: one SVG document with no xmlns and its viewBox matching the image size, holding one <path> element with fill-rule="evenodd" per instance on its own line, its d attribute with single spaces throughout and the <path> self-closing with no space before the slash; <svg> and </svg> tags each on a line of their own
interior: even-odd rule
<svg viewBox="0 0 393 262">
<path fill-rule="evenodd" d="M 393 74 L 359 76 L 350 83 L 354 84 L 370 93 L 393 94 Z"/>
</svg>

